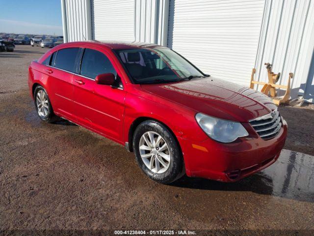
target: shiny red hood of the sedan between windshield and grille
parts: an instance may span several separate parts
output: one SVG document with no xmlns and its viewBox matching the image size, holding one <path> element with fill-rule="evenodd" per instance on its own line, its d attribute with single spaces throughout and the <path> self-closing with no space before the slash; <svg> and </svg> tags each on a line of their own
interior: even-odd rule
<svg viewBox="0 0 314 236">
<path fill-rule="evenodd" d="M 141 87 L 196 112 L 239 122 L 247 122 L 277 109 L 265 94 L 212 76 Z"/>
</svg>

